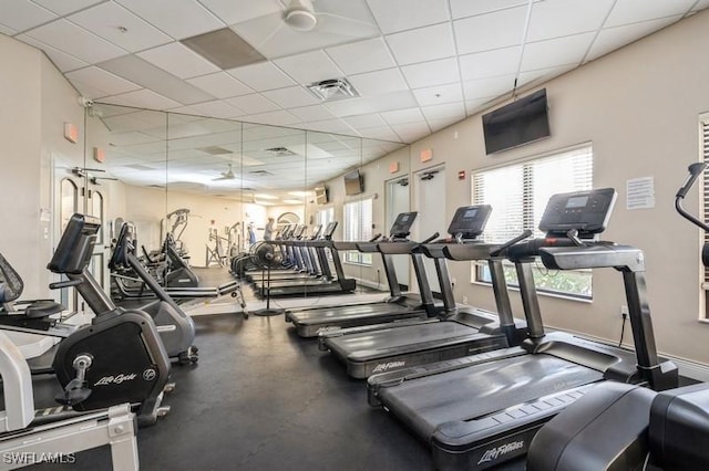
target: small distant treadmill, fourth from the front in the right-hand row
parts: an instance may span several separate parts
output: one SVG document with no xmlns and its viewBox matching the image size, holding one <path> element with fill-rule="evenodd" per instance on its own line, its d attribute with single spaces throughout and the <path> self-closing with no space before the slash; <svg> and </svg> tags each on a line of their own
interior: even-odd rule
<svg viewBox="0 0 709 471">
<path fill-rule="evenodd" d="M 270 296 L 294 296 L 294 295 L 321 295 L 321 294 L 343 294 L 351 293 L 357 287 L 354 279 L 346 278 L 345 270 L 339 253 L 332 243 L 332 233 L 337 228 L 337 222 L 330 222 L 323 231 L 320 240 L 305 241 L 281 241 L 286 247 L 295 248 L 315 248 L 320 268 L 325 271 L 325 276 L 320 279 L 308 280 L 282 280 L 271 282 L 267 286 Z M 332 264 L 335 265 L 336 275 L 330 272 L 330 264 L 326 253 L 326 249 L 332 253 Z"/>
</svg>

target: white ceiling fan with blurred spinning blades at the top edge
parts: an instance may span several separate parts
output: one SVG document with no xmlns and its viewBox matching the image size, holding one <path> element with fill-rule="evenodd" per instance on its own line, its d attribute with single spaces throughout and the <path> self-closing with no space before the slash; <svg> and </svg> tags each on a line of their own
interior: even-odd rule
<svg viewBox="0 0 709 471">
<path fill-rule="evenodd" d="M 381 34 L 364 0 L 284 0 L 281 3 L 285 8 L 233 27 L 268 57 Z"/>
</svg>

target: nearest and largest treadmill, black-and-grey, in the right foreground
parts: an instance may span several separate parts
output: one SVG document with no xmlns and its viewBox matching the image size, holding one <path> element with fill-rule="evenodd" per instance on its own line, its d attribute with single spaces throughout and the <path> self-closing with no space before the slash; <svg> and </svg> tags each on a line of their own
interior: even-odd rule
<svg viewBox="0 0 709 471">
<path fill-rule="evenodd" d="M 615 201 L 612 188 L 555 195 L 542 217 L 546 239 L 511 247 L 528 337 L 518 346 L 371 376 L 368 399 L 432 448 L 439 470 L 487 469 L 526 453 L 566 406 L 604 380 L 676 387 L 677 367 L 660 363 L 645 291 L 643 252 L 595 241 Z M 554 270 L 615 268 L 623 273 L 636 352 L 572 334 L 544 333 L 532 262 Z"/>
</svg>

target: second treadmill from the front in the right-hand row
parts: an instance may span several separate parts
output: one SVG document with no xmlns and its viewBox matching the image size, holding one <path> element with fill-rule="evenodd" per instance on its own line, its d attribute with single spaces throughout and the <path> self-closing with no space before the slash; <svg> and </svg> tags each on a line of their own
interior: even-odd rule
<svg viewBox="0 0 709 471">
<path fill-rule="evenodd" d="M 518 322 L 515 326 L 502 258 L 490 254 L 491 251 L 501 252 L 504 248 L 477 240 L 491 211 L 492 208 L 487 205 L 459 208 L 448 230 L 451 238 L 419 248 L 436 262 L 445 306 L 441 313 L 441 322 L 386 324 L 376 328 L 366 326 L 323 332 L 320 333 L 320 349 L 330 350 L 347 366 L 347 373 L 351 377 L 367 378 L 377 373 L 518 345 L 524 338 L 526 325 Z M 528 237 L 528 233 L 523 237 Z M 470 254 L 460 260 L 490 261 L 500 322 L 495 322 L 497 317 L 491 313 L 455 304 L 444 258 L 444 248 L 448 245 L 460 247 Z M 501 328 L 501 325 L 504 327 Z"/>
</svg>

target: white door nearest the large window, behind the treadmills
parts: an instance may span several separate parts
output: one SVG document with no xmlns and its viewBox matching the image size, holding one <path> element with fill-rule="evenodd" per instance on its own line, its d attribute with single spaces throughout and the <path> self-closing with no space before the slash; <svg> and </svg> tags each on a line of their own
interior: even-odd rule
<svg viewBox="0 0 709 471">
<path fill-rule="evenodd" d="M 444 238 L 448 230 L 445 214 L 445 168 L 436 167 L 422 170 L 413 176 L 413 195 L 415 210 L 419 217 L 414 223 L 415 239 L 418 241 L 428 239 L 433 233 L 439 232 L 439 238 Z M 440 293 L 435 264 L 431 259 L 424 260 L 427 276 L 431 291 Z"/>
</svg>

